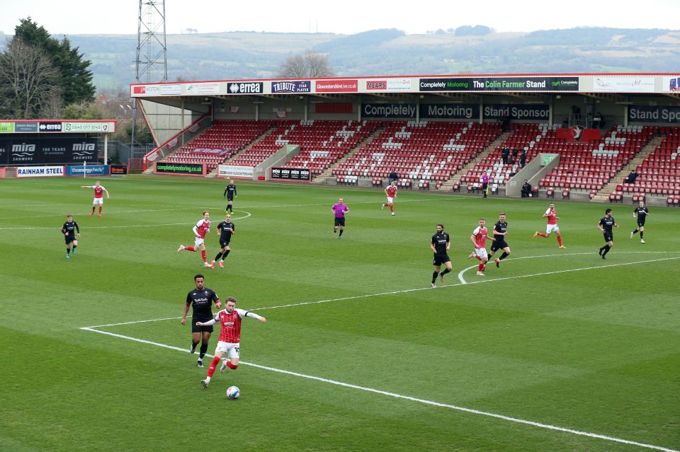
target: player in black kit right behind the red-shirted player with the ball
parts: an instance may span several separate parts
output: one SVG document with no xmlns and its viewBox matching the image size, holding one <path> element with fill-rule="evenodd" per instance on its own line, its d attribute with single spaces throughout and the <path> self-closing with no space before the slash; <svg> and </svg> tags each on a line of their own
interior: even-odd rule
<svg viewBox="0 0 680 452">
<path fill-rule="evenodd" d="M 184 303 L 184 313 L 182 314 L 182 325 L 186 325 L 186 313 L 189 311 L 189 306 L 193 306 L 193 313 L 191 314 L 191 349 L 189 353 L 196 352 L 196 345 L 200 342 L 200 353 L 198 354 L 198 367 L 203 367 L 203 357 L 205 352 L 208 352 L 208 340 L 210 340 L 210 333 L 212 326 L 196 326 L 196 322 L 208 322 L 212 320 L 212 302 L 215 301 L 215 308 L 220 309 L 222 302 L 220 297 L 214 291 L 203 286 L 203 274 L 197 274 L 193 277 L 193 282 L 196 284 L 196 289 L 191 290 L 186 295 L 186 303 Z"/>
</svg>

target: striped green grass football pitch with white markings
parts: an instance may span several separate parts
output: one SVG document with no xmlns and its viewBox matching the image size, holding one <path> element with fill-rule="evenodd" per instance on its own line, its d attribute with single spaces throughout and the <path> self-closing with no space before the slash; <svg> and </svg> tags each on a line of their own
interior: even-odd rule
<svg viewBox="0 0 680 452">
<path fill-rule="evenodd" d="M 402 190 L 390 216 L 382 190 L 237 181 L 211 270 L 177 248 L 207 209 L 215 257 L 223 180 L 102 178 L 101 218 L 93 183 L 0 180 L 0 451 L 680 450 L 678 209 L 650 207 L 642 244 L 632 205 L 555 199 L 560 249 L 533 238 L 545 198 Z M 512 253 L 477 276 L 470 234 L 501 211 Z M 432 289 L 438 223 L 453 272 Z M 267 318 L 207 390 L 180 322 L 198 273 Z"/>
</svg>

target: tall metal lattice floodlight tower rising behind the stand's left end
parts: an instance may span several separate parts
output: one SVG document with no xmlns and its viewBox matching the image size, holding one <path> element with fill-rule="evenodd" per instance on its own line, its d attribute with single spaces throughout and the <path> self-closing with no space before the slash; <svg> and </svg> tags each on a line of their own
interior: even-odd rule
<svg viewBox="0 0 680 452">
<path fill-rule="evenodd" d="M 168 56 L 165 37 L 165 1 L 140 0 L 137 22 L 137 59 L 135 60 L 137 83 L 168 81 Z M 137 101 L 132 110 L 132 147 L 137 124 Z"/>
</svg>

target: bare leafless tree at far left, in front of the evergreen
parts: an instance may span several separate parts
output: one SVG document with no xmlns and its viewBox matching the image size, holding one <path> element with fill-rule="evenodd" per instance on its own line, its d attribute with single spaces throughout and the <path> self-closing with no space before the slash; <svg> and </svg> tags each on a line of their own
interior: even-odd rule
<svg viewBox="0 0 680 452">
<path fill-rule="evenodd" d="M 31 119 L 61 96 L 59 71 L 38 47 L 16 37 L 0 54 L 0 110 L 6 118 Z"/>
</svg>

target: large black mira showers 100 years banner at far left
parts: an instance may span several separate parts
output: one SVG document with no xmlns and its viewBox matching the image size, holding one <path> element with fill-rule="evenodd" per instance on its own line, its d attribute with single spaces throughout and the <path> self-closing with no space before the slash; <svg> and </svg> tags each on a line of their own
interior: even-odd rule
<svg viewBox="0 0 680 452">
<path fill-rule="evenodd" d="M 0 139 L 0 164 L 95 163 L 99 157 L 97 140 L 88 139 Z"/>
</svg>

